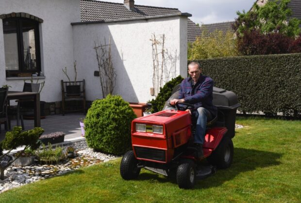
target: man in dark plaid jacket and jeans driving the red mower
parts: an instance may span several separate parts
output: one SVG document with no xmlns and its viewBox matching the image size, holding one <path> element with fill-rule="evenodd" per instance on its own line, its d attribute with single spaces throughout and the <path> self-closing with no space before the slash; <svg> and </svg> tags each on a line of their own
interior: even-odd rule
<svg viewBox="0 0 301 203">
<path fill-rule="evenodd" d="M 210 77 L 201 74 L 202 68 L 198 62 L 189 63 L 188 73 L 190 77 L 185 78 L 180 86 L 179 99 L 171 100 L 170 104 L 185 102 L 194 105 L 195 114 L 192 114 L 190 110 L 187 111 L 197 119 L 194 144 L 198 151 L 198 158 L 202 159 L 207 120 L 217 115 L 217 108 L 212 103 L 214 82 Z"/>
</svg>

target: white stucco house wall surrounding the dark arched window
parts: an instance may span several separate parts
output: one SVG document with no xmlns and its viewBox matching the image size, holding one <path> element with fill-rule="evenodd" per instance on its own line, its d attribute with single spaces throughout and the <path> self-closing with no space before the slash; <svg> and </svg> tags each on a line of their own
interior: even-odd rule
<svg viewBox="0 0 301 203">
<path fill-rule="evenodd" d="M 13 12 L 32 14 L 44 20 L 39 26 L 41 66 L 46 76 L 41 100 L 60 101 L 60 80 L 66 79 L 62 68 L 73 66 L 73 33 L 70 23 L 80 21 L 79 0 L 1 0 L 0 14 Z M 70 74 L 73 75 L 73 72 Z M 6 80 L 3 27 L 0 19 L 0 86 L 8 84 L 12 86 L 11 90 L 21 91 L 23 83 L 23 80 Z"/>
</svg>

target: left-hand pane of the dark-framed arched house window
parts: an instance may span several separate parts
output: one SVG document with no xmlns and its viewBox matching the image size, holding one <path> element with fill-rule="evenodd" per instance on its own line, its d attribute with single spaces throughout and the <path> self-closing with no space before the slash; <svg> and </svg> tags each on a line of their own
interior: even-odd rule
<svg viewBox="0 0 301 203">
<path fill-rule="evenodd" d="M 17 21 L 3 21 L 3 38 L 5 53 L 5 69 L 19 70 Z"/>
</svg>

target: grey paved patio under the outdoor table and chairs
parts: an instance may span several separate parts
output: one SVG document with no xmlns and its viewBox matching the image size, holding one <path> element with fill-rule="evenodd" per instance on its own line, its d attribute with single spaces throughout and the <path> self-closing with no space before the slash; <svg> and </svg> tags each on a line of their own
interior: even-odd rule
<svg viewBox="0 0 301 203">
<path fill-rule="evenodd" d="M 44 129 L 43 134 L 49 134 L 51 132 L 63 131 L 65 133 L 65 142 L 84 139 L 82 137 L 82 131 L 80 128 L 80 118 L 84 117 L 83 113 L 70 113 L 46 116 L 45 119 L 41 119 L 41 127 Z M 12 128 L 16 126 L 17 120 L 11 121 Z M 34 128 L 33 120 L 24 119 L 25 130 L 31 130 Z M 1 125 L 0 141 L 5 137 L 4 125 Z"/>
</svg>

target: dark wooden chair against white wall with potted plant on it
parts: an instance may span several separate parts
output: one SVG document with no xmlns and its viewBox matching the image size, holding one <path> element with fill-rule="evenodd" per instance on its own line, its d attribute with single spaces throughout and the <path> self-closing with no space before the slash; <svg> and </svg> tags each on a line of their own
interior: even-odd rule
<svg viewBox="0 0 301 203">
<path fill-rule="evenodd" d="M 86 113 L 86 98 L 85 98 L 85 83 L 82 81 L 64 82 L 61 80 L 62 85 L 62 113 L 63 116 L 66 112 L 83 111 Z M 80 105 L 68 105 L 73 101 L 82 101 Z"/>
</svg>

